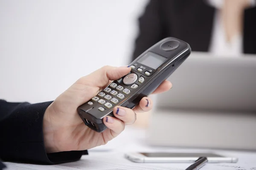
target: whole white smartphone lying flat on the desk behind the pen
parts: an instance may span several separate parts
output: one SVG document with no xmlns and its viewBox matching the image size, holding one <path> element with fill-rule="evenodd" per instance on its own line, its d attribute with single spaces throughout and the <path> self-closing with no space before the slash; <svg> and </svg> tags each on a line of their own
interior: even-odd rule
<svg viewBox="0 0 256 170">
<path fill-rule="evenodd" d="M 125 158 L 140 163 L 189 163 L 199 157 L 207 157 L 209 163 L 237 162 L 238 158 L 222 156 L 215 153 L 126 153 Z"/>
</svg>

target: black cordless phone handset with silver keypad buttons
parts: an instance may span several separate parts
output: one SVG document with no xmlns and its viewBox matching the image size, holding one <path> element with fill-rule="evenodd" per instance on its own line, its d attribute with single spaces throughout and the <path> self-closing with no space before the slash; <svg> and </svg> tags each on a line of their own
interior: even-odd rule
<svg viewBox="0 0 256 170">
<path fill-rule="evenodd" d="M 189 57 L 188 43 L 167 37 L 148 48 L 131 62 L 131 72 L 102 90 L 97 96 L 79 106 L 78 114 L 85 125 L 103 132 L 107 127 L 102 119 L 113 116 L 113 108 L 120 105 L 134 108 L 144 96 L 151 94 L 179 65 Z"/>
</svg>

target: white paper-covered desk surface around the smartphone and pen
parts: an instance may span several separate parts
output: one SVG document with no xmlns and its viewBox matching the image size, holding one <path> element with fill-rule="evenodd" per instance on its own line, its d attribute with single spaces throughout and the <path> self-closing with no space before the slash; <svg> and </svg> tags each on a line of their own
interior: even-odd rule
<svg viewBox="0 0 256 170">
<path fill-rule="evenodd" d="M 185 169 L 189 163 L 134 163 L 124 158 L 127 152 L 215 152 L 238 157 L 238 163 L 207 164 L 201 170 L 256 170 L 256 152 L 232 150 L 207 150 L 192 148 L 151 147 L 145 140 L 145 130 L 126 127 L 125 131 L 108 142 L 108 144 L 89 150 L 89 155 L 82 156 L 80 161 L 59 165 L 33 165 L 6 162 L 7 170 L 178 170 Z M 255 169 L 254 169 L 255 168 Z"/>
</svg>

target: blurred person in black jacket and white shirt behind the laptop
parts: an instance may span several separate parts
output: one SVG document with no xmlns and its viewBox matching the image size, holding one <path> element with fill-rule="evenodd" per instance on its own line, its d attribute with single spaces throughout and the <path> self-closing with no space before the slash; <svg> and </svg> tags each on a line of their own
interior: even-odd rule
<svg viewBox="0 0 256 170">
<path fill-rule="evenodd" d="M 139 18 L 132 60 L 165 37 L 192 51 L 237 57 L 256 54 L 256 0 L 150 0 Z"/>
</svg>

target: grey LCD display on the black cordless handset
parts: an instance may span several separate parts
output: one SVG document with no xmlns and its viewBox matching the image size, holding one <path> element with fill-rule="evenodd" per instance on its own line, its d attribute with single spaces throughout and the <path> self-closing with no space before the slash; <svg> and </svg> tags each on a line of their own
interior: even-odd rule
<svg viewBox="0 0 256 170">
<path fill-rule="evenodd" d="M 141 57 L 138 62 L 143 65 L 147 65 L 148 67 L 157 69 L 163 62 L 166 60 L 166 57 L 160 56 L 158 54 L 154 54 L 152 52 L 146 53 L 143 57 Z"/>
</svg>

